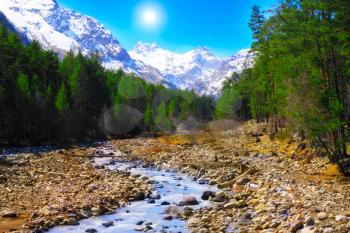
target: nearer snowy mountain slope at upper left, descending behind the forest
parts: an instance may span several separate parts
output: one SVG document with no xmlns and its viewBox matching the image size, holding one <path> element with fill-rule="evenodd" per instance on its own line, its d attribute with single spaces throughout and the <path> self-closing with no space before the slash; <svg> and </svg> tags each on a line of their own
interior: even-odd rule
<svg viewBox="0 0 350 233">
<path fill-rule="evenodd" d="M 130 58 L 111 32 L 95 19 L 65 9 L 55 0 L 0 0 L 0 12 L 17 32 L 60 56 L 69 50 L 99 52 L 103 64 L 170 86 L 157 69 Z"/>
</svg>

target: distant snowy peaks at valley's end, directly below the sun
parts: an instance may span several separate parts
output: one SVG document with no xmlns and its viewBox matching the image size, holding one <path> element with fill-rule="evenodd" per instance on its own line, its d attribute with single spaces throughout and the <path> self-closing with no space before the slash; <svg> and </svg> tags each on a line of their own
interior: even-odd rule
<svg viewBox="0 0 350 233">
<path fill-rule="evenodd" d="M 206 95 L 217 95 L 227 77 L 251 67 L 254 60 L 249 50 L 241 50 L 231 57 L 220 59 L 206 47 L 175 53 L 155 43 L 141 42 L 129 54 L 133 59 L 159 69 L 177 88 L 192 89 Z"/>
</svg>

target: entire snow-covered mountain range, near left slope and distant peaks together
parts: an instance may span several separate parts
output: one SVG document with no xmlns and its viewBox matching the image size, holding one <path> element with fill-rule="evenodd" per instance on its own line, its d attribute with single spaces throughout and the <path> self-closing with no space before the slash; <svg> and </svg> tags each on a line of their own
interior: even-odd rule
<svg viewBox="0 0 350 233">
<path fill-rule="evenodd" d="M 24 42 L 37 40 L 61 57 L 69 50 L 98 52 L 106 68 L 121 68 L 149 82 L 198 94 L 219 94 L 226 77 L 253 62 L 248 50 L 220 59 L 205 47 L 179 54 L 146 43 L 138 43 L 130 56 L 101 23 L 56 0 L 0 0 L 0 22 Z"/>
</svg>

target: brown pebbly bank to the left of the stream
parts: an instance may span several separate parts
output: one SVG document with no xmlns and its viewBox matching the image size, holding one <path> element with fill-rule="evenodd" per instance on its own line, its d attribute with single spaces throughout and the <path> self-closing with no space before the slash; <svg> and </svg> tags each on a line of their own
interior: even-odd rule
<svg viewBox="0 0 350 233">
<path fill-rule="evenodd" d="M 0 232 L 41 232 L 112 213 L 148 193 L 147 180 L 94 166 L 94 147 L 19 153 L 0 161 Z"/>
</svg>

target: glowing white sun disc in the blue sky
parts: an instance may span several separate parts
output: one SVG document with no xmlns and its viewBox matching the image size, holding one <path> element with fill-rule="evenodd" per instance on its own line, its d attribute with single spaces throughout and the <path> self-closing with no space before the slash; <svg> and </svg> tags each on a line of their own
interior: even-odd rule
<svg viewBox="0 0 350 233">
<path fill-rule="evenodd" d="M 138 25 L 147 30 L 159 30 L 165 23 L 165 13 L 160 5 L 144 4 L 136 11 Z"/>
</svg>

